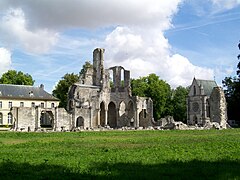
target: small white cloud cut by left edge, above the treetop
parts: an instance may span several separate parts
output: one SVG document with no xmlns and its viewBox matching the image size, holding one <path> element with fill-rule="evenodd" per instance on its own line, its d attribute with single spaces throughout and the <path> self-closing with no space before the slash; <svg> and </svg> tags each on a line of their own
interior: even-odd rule
<svg viewBox="0 0 240 180">
<path fill-rule="evenodd" d="M 0 48 L 0 76 L 11 67 L 11 52 L 5 48 Z"/>
</svg>

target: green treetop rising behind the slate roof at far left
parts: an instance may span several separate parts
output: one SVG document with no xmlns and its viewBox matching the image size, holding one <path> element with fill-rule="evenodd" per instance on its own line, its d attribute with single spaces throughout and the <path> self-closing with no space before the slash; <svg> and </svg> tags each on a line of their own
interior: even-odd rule
<svg viewBox="0 0 240 180">
<path fill-rule="evenodd" d="M 9 70 L 0 78 L 0 84 L 31 85 L 34 80 L 31 75 L 24 74 L 22 71 Z"/>
</svg>

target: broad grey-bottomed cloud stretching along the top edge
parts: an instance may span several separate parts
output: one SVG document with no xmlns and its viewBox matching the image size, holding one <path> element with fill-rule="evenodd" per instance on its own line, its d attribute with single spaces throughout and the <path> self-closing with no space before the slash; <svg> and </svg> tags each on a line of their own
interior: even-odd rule
<svg viewBox="0 0 240 180">
<path fill-rule="evenodd" d="M 21 7 L 31 27 L 102 27 L 161 24 L 175 12 L 181 0 L 1 0 L 0 7 Z"/>
</svg>

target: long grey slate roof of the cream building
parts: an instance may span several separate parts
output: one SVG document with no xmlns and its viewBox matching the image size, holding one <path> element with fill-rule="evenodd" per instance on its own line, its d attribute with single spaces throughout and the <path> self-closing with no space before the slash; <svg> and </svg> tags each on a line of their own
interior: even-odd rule
<svg viewBox="0 0 240 180">
<path fill-rule="evenodd" d="M 58 101 L 41 87 L 0 84 L 0 98 Z"/>
</svg>

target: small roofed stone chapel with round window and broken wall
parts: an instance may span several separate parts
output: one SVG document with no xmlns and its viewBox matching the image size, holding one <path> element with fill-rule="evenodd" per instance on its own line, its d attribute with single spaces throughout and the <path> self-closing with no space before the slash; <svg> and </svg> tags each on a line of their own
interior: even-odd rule
<svg viewBox="0 0 240 180">
<path fill-rule="evenodd" d="M 217 122 L 226 128 L 226 99 L 215 81 L 193 79 L 187 98 L 187 119 L 188 125 L 205 126 Z"/>
</svg>

